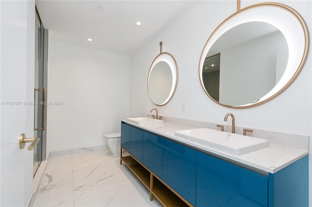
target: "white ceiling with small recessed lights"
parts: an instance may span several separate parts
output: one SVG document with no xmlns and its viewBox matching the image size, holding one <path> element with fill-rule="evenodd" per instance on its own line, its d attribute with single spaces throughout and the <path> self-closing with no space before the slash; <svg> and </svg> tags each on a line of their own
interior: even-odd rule
<svg viewBox="0 0 312 207">
<path fill-rule="evenodd" d="M 130 55 L 197 2 L 36 0 L 36 5 L 51 40 Z"/>
</svg>

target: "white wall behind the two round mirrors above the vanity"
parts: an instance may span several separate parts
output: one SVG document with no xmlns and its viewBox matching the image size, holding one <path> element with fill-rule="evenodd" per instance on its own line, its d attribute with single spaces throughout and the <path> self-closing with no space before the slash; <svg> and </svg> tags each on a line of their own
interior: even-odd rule
<svg viewBox="0 0 312 207">
<path fill-rule="evenodd" d="M 265 1 L 241 1 L 241 8 Z M 291 6 L 305 19 L 311 35 L 312 1 L 277 1 Z M 168 28 L 147 42 L 131 56 L 132 117 L 145 116 L 156 107 L 160 116 L 189 120 L 224 122 L 224 116 L 232 112 L 237 126 L 312 137 L 312 73 L 311 46 L 308 59 L 299 76 L 286 91 L 272 101 L 246 109 L 226 108 L 213 102 L 203 91 L 198 77 L 198 64 L 203 47 L 215 28 L 236 11 L 236 1 L 200 1 Z M 178 85 L 173 99 L 164 106 L 154 105 L 149 97 L 146 80 L 150 65 L 159 52 L 159 41 L 163 41 L 163 52 L 170 52 L 178 67 Z M 186 111 L 182 111 L 182 102 Z M 310 154 L 312 154 L 310 141 Z M 312 157 L 310 155 L 310 166 Z M 310 169 L 312 169 L 310 167 Z M 310 170 L 312 189 L 312 170 Z M 312 206 L 312 190 L 310 205 Z"/>
</svg>

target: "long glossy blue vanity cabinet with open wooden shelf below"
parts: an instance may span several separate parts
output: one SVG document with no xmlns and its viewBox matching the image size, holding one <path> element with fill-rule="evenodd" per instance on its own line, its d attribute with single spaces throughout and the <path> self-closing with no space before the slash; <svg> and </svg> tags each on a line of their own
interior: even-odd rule
<svg viewBox="0 0 312 207">
<path fill-rule="evenodd" d="M 121 160 L 154 196 L 164 199 L 163 202 L 180 202 L 168 206 L 309 205 L 309 155 L 275 173 L 254 173 L 258 171 L 251 170 L 252 167 L 232 164 L 221 156 L 208 155 L 124 122 L 121 123 L 121 146 L 131 154 Z M 152 176 L 153 173 L 157 176 Z M 172 189 L 179 195 L 171 192 Z"/>
</svg>

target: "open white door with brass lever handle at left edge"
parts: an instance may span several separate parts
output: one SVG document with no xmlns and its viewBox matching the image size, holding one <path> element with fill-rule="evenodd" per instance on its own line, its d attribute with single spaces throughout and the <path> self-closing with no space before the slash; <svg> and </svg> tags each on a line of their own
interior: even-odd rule
<svg viewBox="0 0 312 207">
<path fill-rule="evenodd" d="M 26 206 L 33 193 L 35 1 L 0 0 L 0 206 Z"/>
</svg>

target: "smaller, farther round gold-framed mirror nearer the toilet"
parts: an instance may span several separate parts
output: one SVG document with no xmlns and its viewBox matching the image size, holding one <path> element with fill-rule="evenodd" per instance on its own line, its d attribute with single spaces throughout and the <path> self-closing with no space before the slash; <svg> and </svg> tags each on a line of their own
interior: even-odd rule
<svg viewBox="0 0 312 207">
<path fill-rule="evenodd" d="M 168 52 L 156 56 L 147 78 L 148 94 L 156 105 L 165 105 L 173 97 L 177 85 L 175 58 Z"/>
</svg>

